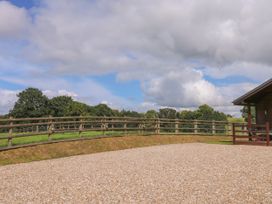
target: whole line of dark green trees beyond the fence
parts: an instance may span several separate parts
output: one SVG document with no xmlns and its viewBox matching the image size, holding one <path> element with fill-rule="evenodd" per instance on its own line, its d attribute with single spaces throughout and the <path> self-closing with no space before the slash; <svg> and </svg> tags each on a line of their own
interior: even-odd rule
<svg viewBox="0 0 272 204">
<path fill-rule="evenodd" d="M 90 106 L 75 101 L 70 96 L 56 96 L 49 99 L 37 88 L 27 88 L 17 94 L 18 100 L 9 114 L 5 117 L 32 118 L 32 117 L 62 117 L 62 116 L 117 116 L 117 117 L 145 117 L 169 118 L 186 120 L 217 120 L 226 121 L 229 115 L 214 110 L 208 105 L 202 105 L 197 110 L 181 112 L 172 108 L 162 108 L 159 111 L 148 110 L 139 113 L 131 110 L 115 110 L 106 104 Z"/>
</svg>

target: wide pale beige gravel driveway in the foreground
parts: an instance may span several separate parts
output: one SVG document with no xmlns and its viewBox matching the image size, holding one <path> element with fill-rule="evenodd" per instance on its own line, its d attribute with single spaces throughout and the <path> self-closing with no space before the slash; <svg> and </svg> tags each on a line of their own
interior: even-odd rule
<svg viewBox="0 0 272 204">
<path fill-rule="evenodd" d="M 176 144 L 0 167 L 0 203 L 272 203 L 272 148 Z"/>
</svg>

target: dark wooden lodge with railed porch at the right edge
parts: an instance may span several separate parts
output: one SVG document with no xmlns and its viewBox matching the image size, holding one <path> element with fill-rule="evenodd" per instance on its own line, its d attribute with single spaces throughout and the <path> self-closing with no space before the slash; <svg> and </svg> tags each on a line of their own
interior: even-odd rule
<svg viewBox="0 0 272 204">
<path fill-rule="evenodd" d="M 248 111 L 246 130 L 245 128 L 241 130 L 237 124 L 233 125 L 233 142 L 238 143 L 238 139 L 243 137 L 242 133 L 246 133 L 245 137 L 248 138 L 248 142 L 269 145 L 272 139 L 270 133 L 270 127 L 272 127 L 272 78 L 237 98 L 233 104 L 247 106 Z M 252 107 L 255 108 L 256 123 L 252 123 Z"/>
</svg>

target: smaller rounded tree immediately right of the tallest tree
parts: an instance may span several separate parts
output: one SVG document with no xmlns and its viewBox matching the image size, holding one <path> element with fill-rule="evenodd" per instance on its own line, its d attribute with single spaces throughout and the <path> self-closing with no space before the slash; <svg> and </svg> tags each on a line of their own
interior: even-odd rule
<svg viewBox="0 0 272 204">
<path fill-rule="evenodd" d="M 54 117 L 62 117 L 68 114 L 68 109 L 73 103 L 70 96 L 56 96 L 49 101 L 51 115 Z M 68 114 L 69 115 L 69 114 Z"/>
</svg>

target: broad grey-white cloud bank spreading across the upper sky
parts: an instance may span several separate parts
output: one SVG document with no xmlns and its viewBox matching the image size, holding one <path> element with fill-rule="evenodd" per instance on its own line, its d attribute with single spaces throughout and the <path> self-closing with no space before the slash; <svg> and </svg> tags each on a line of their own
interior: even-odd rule
<svg viewBox="0 0 272 204">
<path fill-rule="evenodd" d="M 154 73 L 190 60 L 215 67 L 272 63 L 270 1 L 45 4 L 36 10 L 31 55 L 53 63 L 55 72 L 133 75 L 139 69 Z"/>
</svg>

